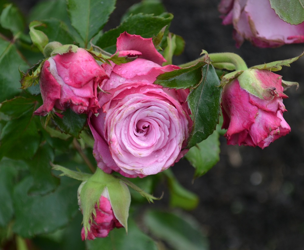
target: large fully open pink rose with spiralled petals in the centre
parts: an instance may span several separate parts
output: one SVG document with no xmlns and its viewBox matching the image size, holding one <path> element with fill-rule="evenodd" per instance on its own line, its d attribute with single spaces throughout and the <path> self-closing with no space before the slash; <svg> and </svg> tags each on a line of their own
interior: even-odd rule
<svg viewBox="0 0 304 250">
<path fill-rule="evenodd" d="M 178 66 L 162 67 L 164 58 L 152 39 L 122 33 L 119 55 L 137 55 L 133 62 L 104 65 L 109 80 L 102 83 L 99 115 L 89 114 L 95 139 L 93 154 L 106 173 L 144 177 L 164 171 L 184 150 L 192 121 L 186 103 L 188 90 L 169 90 L 153 84 L 156 77 Z"/>
</svg>

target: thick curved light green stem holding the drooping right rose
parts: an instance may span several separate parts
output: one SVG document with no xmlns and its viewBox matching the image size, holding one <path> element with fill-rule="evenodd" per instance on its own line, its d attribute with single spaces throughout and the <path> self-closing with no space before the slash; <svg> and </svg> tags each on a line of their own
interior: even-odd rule
<svg viewBox="0 0 304 250">
<path fill-rule="evenodd" d="M 239 55 L 234 54 L 234 53 L 230 53 L 230 52 L 206 54 L 206 55 L 203 55 L 202 57 L 200 57 L 200 58 L 198 58 L 194 61 L 187 62 L 187 63 L 179 65 L 179 66 L 182 67 L 182 68 L 185 68 L 185 67 L 189 67 L 191 65 L 194 65 L 195 63 L 197 63 L 199 61 L 205 61 L 207 55 L 210 57 L 210 59 L 213 63 L 228 62 L 228 63 L 231 63 L 235 66 L 235 70 L 246 70 L 246 69 L 248 69 L 246 63 L 244 62 L 244 60 Z"/>
</svg>

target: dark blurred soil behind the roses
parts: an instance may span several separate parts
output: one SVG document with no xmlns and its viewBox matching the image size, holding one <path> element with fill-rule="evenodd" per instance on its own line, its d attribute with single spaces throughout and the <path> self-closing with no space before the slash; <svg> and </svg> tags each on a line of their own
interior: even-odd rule
<svg viewBox="0 0 304 250">
<path fill-rule="evenodd" d="M 26 12 L 36 1 L 14 1 Z M 105 30 L 119 24 L 135 0 L 118 0 Z M 170 31 L 186 42 L 174 64 L 192 61 L 202 49 L 209 53 L 234 52 L 247 65 L 298 56 L 303 44 L 275 49 L 255 48 L 245 42 L 240 49 L 232 39 L 232 26 L 221 25 L 219 0 L 164 0 L 174 14 Z M 192 184 L 193 168 L 186 160 L 172 167 L 182 185 L 200 196 L 192 211 L 210 241 L 211 250 L 304 249 L 304 58 L 278 72 L 287 81 L 300 83 L 286 91 L 285 120 L 292 131 L 269 147 L 227 146 L 221 138 L 220 161 Z M 189 249 L 190 250 L 190 249 Z"/>
</svg>

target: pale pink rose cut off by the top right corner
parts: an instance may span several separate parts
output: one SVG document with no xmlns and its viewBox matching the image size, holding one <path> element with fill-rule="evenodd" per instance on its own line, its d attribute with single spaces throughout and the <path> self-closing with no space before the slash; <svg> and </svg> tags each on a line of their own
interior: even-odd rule
<svg viewBox="0 0 304 250">
<path fill-rule="evenodd" d="M 244 39 L 261 48 L 304 42 L 304 23 L 291 25 L 271 9 L 269 0 L 222 0 L 223 24 L 233 24 L 233 37 L 240 47 Z"/>
</svg>

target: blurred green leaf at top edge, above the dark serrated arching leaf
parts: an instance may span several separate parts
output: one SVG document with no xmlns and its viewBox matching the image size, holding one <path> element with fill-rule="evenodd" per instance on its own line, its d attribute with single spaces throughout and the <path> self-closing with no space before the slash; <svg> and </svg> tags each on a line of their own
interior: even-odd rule
<svg viewBox="0 0 304 250">
<path fill-rule="evenodd" d="M 130 15 L 139 13 L 159 16 L 164 12 L 166 12 L 166 8 L 160 0 L 142 0 L 140 3 L 136 3 L 127 9 L 126 13 L 121 18 L 121 21 L 123 22 Z"/>
</svg>

